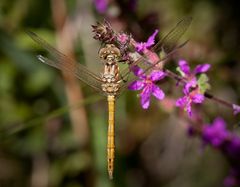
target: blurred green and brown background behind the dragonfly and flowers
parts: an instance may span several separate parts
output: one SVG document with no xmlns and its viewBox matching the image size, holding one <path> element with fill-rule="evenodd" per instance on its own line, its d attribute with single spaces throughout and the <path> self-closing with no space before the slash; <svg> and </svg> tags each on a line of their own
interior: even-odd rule
<svg viewBox="0 0 240 187">
<path fill-rule="evenodd" d="M 129 1 L 131 3 L 131 1 Z M 237 0 L 109 1 L 99 14 L 88 0 L 0 1 L 0 186 L 1 187 L 219 187 L 229 166 L 216 150 L 201 149 L 186 136 L 187 123 L 174 107 L 175 82 L 161 85 L 167 97 L 142 110 L 126 91 L 116 108 L 114 180 L 106 167 L 106 99 L 80 81 L 41 64 L 45 54 L 25 33 L 32 30 L 92 71 L 101 68 L 100 43 L 91 25 L 107 18 L 116 30 L 146 39 L 159 27 L 166 34 L 182 17 L 193 16 L 184 36 L 190 42 L 175 59 L 191 66 L 210 63 L 211 91 L 240 102 L 240 2 Z M 143 24 L 148 23 L 148 24 Z M 175 67 L 172 62 L 169 68 Z M 203 121 L 222 116 L 239 130 L 239 117 L 206 100 L 195 108 Z"/>
</svg>

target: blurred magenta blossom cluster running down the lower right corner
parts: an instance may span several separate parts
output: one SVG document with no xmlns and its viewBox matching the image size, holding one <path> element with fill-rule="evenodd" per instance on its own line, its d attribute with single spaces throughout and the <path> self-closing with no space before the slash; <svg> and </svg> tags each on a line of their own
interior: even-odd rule
<svg viewBox="0 0 240 187">
<path fill-rule="evenodd" d="M 205 124 L 201 131 L 191 127 L 191 135 L 198 135 L 199 132 L 203 141 L 203 145 L 210 145 L 221 151 L 230 163 L 231 171 L 224 180 L 224 186 L 235 187 L 240 186 L 240 137 L 239 135 L 229 131 L 225 121 L 218 117 L 212 124 Z"/>
</svg>

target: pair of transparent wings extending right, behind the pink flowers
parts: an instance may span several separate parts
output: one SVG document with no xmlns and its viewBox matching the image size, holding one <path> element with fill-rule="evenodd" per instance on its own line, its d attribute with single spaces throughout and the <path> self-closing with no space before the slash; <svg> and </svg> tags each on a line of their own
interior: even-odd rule
<svg viewBox="0 0 240 187">
<path fill-rule="evenodd" d="M 187 43 L 187 41 L 185 41 L 180 45 L 178 45 L 178 41 L 182 37 L 182 35 L 186 32 L 191 22 L 192 22 L 191 17 L 186 17 L 182 19 L 176 24 L 176 26 L 172 30 L 170 30 L 170 32 L 165 37 L 163 37 L 162 40 L 160 40 L 158 43 L 154 45 L 154 47 L 152 47 L 151 51 L 149 52 L 149 55 L 150 53 L 152 53 L 152 51 L 160 55 L 159 61 L 152 63 L 152 62 L 149 62 L 149 60 L 146 57 L 140 56 L 135 62 L 133 62 L 127 68 L 123 69 L 121 71 L 121 76 L 123 79 L 121 83 L 122 84 L 121 88 L 123 89 L 127 87 L 127 85 L 130 82 L 137 79 L 131 72 L 132 66 L 135 66 L 135 65 L 140 66 L 145 73 L 151 70 L 152 68 L 156 67 L 156 65 L 159 65 L 160 63 L 163 63 L 164 61 L 166 61 L 173 53 L 175 53 L 178 49 L 183 47 Z M 148 54 L 146 56 L 148 56 Z"/>
</svg>

